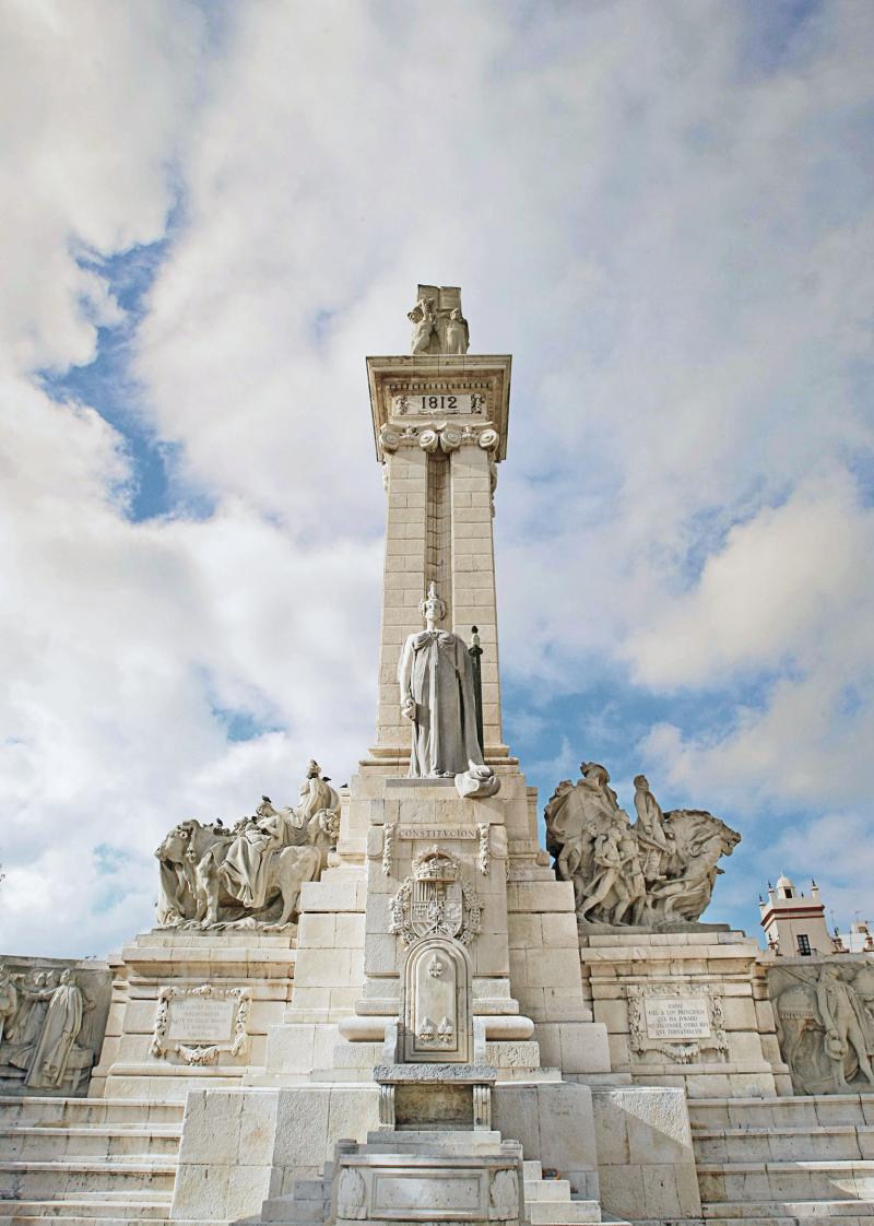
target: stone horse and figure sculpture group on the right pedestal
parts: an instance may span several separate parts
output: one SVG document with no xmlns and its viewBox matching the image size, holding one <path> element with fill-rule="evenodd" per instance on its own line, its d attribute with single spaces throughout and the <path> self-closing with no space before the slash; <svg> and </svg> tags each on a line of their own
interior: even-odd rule
<svg viewBox="0 0 874 1226">
<path fill-rule="evenodd" d="M 574 883 L 580 920 L 606 924 L 695 921 L 713 893 L 721 856 L 740 835 L 704 809 L 663 813 L 644 775 L 634 781 L 633 824 L 599 763 L 582 763 L 545 808 L 547 848 Z"/>
</svg>

